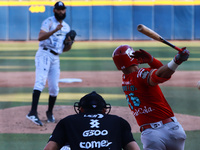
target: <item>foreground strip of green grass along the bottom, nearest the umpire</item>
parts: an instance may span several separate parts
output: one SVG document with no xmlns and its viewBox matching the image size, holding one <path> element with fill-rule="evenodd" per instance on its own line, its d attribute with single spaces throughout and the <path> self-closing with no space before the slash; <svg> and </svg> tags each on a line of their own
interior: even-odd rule
<svg viewBox="0 0 200 150">
<path fill-rule="evenodd" d="M 199 150 L 200 131 L 187 131 L 186 135 L 185 150 Z M 49 136 L 50 134 L 0 134 L 0 150 L 41 150 Z M 140 133 L 134 133 L 133 136 L 142 150 Z"/>
</svg>

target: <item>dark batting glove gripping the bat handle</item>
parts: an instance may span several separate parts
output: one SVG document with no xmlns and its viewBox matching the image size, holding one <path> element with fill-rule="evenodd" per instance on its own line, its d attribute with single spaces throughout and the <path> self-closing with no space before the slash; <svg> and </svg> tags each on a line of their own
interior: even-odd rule
<svg viewBox="0 0 200 150">
<path fill-rule="evenodd" d="M 174 62 L 180 65 L 182 62 L 187 61 L 189 54 L 190 52 L 186 49 L 186 47 L 183 47 L 182 52 L 178 52 L 178 54 L 174 57 Z"/>
</svg>

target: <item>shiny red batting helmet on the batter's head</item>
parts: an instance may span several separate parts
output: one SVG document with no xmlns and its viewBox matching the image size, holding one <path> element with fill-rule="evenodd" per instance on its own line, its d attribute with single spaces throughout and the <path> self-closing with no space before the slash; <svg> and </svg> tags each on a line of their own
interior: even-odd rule
<svg viewBox="0 0 200 150">
<path fill-rule="evenodd" d="M 112 58 L 118 70 L 123 70 L 131 65 L 138 65 L 137 59 L 130 56 L 133 52 L 133 48 L 129 45 L 120 45 L 114 50 Z"/>
</svg>

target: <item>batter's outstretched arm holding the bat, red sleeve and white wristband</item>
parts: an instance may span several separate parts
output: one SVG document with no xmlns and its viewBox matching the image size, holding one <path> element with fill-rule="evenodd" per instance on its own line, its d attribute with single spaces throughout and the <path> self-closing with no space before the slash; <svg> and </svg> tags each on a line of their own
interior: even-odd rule
<svg viewBox="0 0 200 150">
<path fill-rule="evenodd" d="M 171 78 L 171 75 L 175 72 L 176 68 L 184 61 L 187 61 L 189 58 L 189 51 L 187 49 L 183 49 L 182 52 L 178 52 L 178 54 L 174 57 L 172 61 L 168 64 L 160 67 L 159 69 L 155 69 L 151 72 L 149 78 L 149 84 L 155 86 L 159 83 L 163 83 Z"/>
</svg>

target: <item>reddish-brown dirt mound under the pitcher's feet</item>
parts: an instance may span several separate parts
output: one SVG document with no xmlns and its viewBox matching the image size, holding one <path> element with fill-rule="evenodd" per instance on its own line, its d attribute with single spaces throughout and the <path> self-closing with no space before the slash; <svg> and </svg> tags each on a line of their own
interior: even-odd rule
<svg viewBox="0 0 200 150">
<path fill-rule="evenodd" d="M 43 126 L 37 126 L 26 118 L 30 110 L 30 106 L 12 107 L 0 110 L 0 133 L 52 133 L 56 123 L 71 114 L 75 114 L 73 106 L 56 105 L 54 107 L 54 117 L 56 123 L 47 123 L 46 121 L 46 105 L 38 106 L 38 116 Z M 126 119 L 132 128 L 132 132 L 139 132 L 139 127 L 134 116 L 128 107 L 112 106 L 111 113 Z M 178 121 L 182 124 L 186 131 L 200 130 L 200 117 L 175 114 Z M 195 122 L 195 123 L 194 123 Z"/>
</svg>

